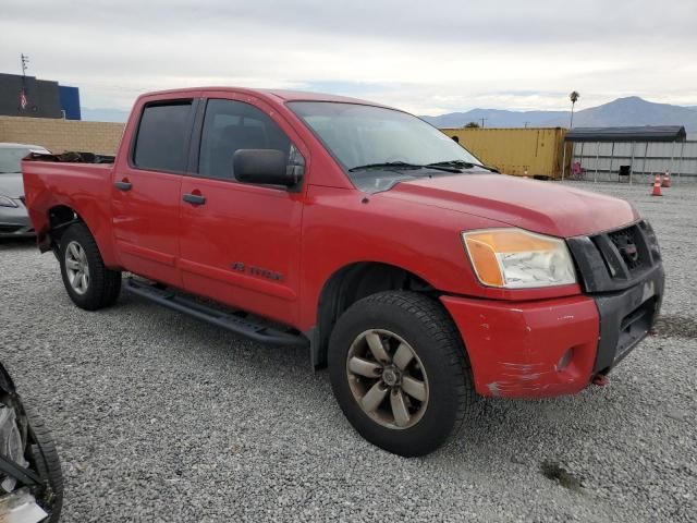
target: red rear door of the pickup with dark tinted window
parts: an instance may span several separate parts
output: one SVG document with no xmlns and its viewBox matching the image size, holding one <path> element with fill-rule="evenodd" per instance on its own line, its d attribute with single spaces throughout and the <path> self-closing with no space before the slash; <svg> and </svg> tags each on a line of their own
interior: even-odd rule
<svg viewBox="0 0 697 523">
<path fill-rule="evenodd" d="M 196 105 L 195 98 L 146 101 L 112 187 L 113 230 L 124 268 L 176 287 L 182 287 L 180 188 Z"/>
</svg>

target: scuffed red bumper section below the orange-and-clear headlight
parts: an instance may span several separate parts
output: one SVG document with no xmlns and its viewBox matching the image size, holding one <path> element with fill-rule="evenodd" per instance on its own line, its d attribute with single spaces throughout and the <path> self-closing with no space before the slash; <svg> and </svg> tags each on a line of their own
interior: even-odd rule
<svg viewBox="0 0 697 523">
<path fill-rule="evenodd" d="M 591 380 L 598 309 L 587 296 L 501 302 L 443 296 L 482 396 L 540 398 L 571 394 Z M 558 365 L 571 350 L 567 365 Z"/>
</svg>

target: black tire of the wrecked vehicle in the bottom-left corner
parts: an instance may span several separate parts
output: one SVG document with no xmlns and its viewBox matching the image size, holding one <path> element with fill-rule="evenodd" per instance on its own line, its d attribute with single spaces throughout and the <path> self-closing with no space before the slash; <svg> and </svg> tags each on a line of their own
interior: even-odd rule
<svg viewBox="0 0 697 523">
<path fill-rule="evenodd" d="M 56 451 L 56 443 L 51 433 L 44 424 L 44 419 L 30 406 L 24 405 L 28 422 L 28 441 L 26 454 L 41 477 L 44 485 L 37 503 L 49 514 L 44 520 L 57 523 L 63 508 L 63 472 Z"/>
</svg>

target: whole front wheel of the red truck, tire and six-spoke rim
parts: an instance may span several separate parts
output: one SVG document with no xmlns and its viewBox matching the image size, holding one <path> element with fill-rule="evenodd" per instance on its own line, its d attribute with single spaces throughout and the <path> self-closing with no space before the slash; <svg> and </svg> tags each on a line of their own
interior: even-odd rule
<svg viewBox="0 0 697 523">
<path fill-rule="evenodd" d="M 404 457 L 454 437 L 474 402 L 457 328 L 435 300 L 388 291 L 353 304 L 330 340 L 337 400 L 368 441 Z"/>
</svg>

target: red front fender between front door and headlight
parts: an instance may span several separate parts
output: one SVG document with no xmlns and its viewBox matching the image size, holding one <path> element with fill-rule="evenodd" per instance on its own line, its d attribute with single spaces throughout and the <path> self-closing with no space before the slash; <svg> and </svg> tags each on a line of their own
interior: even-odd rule
<svg viewBox="0 0 697 523">
<path fill-rule="evenodd" d="M 317 323 L 319 295 L 329 278 L 358 262 L 401 267 L 448 293 L 480 292 L 460 234 L 454 232 L 465 227 L 462 214 L 443 209 L 426 219 L 423 206 L 403 203 L 395 212 L 384 194 L 371 195 L 367 203 L 365 198 L 357 191 L 308 190 L 303 216 L 302 329 Z M 478 217 L 470 217 L 467 224 L 500 226 Z"/>
</svg>

